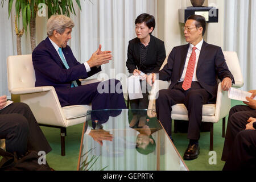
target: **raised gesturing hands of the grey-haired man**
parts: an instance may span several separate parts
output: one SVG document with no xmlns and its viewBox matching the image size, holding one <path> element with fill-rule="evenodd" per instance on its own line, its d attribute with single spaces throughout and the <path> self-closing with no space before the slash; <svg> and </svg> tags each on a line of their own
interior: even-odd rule
<svg viewBox="0 0 256 182">
<path fill-rule="evenodd" d="M 90 60 L 87 61 L 90 68 L 100 67 L 102 64 L 107 64 L 112 60 L 111 51 L 101 51 L 101 44 L 98 47 L 97 51 L 93 53 Z"/>
</svg>

